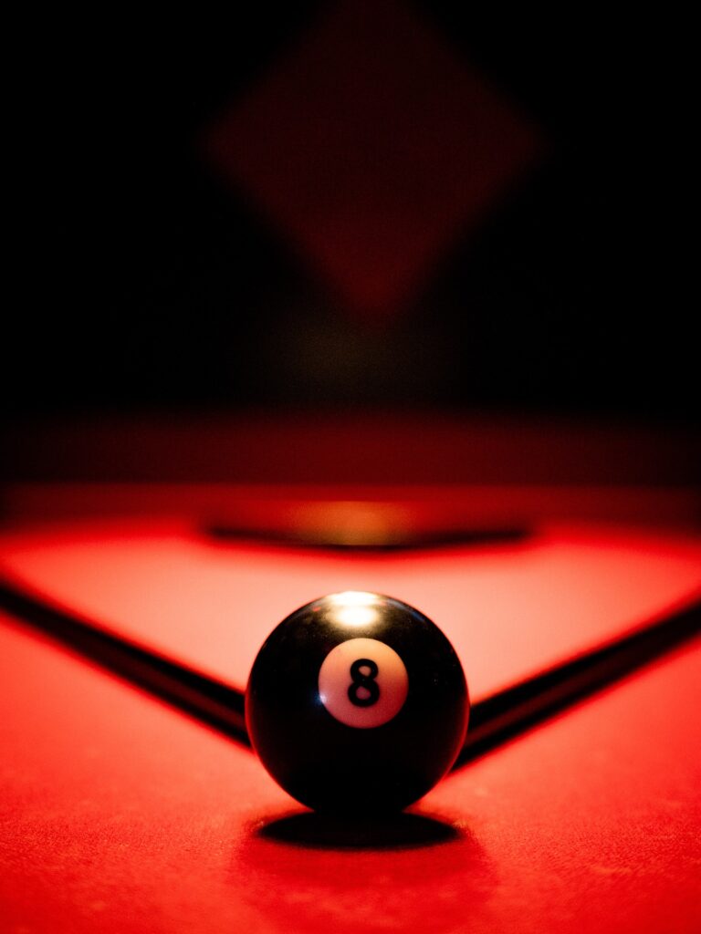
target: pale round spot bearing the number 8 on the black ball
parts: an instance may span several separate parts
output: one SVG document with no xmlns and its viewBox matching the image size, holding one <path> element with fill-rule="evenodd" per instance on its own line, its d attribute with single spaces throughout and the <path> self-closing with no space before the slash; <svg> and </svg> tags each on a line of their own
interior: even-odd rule
<svg viewBox="0 0 701 934">
<path fill-rule="evenodd" d="M 381 727 L 404 706 L 407 668 L 379 639 L 349 639 L 336 645 L 319 670 L 319 698 L 347 727 Z"/>
</svg>

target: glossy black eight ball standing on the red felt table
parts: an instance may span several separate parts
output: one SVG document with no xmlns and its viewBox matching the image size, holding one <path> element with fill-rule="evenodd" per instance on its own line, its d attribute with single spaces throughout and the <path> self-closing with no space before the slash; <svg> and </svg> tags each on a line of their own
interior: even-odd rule
<svg viewBox="0 0 701 934">
<path fill-rule="evenodd" d="M 348 591 L 273 630 L 246 690 L 265 769 L 317 811 L 400 810 L 450 768 L 465 740 L 465 675 L 437 626 L 402 601 Z"/>
</svg>

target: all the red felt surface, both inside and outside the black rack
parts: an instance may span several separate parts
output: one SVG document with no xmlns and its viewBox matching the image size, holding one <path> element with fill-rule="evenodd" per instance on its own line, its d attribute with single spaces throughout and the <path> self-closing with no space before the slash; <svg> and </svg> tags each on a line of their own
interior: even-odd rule
<svg viewBox="0 0 701 934">
<path fill-rule="evenodd" d="M 479 698 L 664 616 L 701 544 L 557 526 L 352 558 L 91 523 L 7 534 L 0 567 L 239 686 L 299 603 L 389 590 L 449 633 Z M 453 771 L 412 809 L 422 832 L 320 837 L 248 748 L 0 616 L 0 929 L 693 930 L 699 701 L 696 640 Z"/>
</svg>

